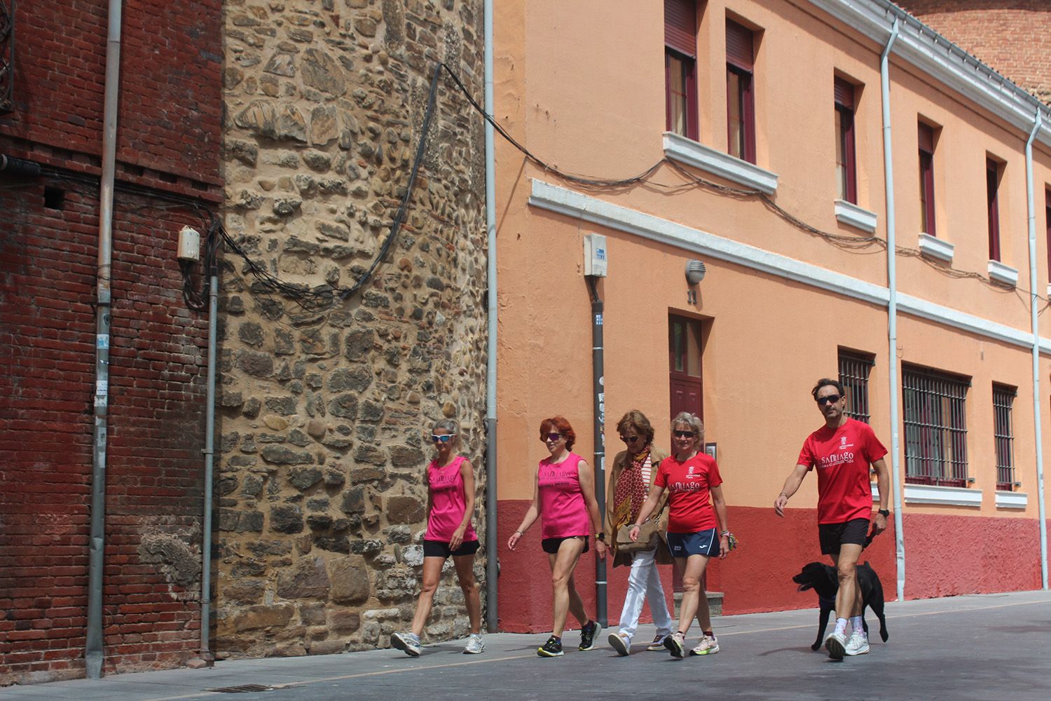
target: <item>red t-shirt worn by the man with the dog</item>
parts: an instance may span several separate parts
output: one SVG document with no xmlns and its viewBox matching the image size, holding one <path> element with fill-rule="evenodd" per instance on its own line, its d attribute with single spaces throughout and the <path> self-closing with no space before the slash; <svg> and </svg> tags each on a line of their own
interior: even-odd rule
<svg viewBox="0 0 1051 701">
<path fill-rule="evenodd" d="M 845 523 L 872 514 L 869 465 L 887 454 L 868 424 L 848 418 L 823 426 L 803 441 L 798 465 L 818 468 L 818 522 Z"/>
</svg>

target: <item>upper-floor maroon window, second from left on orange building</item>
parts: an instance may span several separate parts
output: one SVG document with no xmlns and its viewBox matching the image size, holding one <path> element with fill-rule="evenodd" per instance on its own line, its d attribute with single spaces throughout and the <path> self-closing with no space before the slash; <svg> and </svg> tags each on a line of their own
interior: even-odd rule
<svg viewBox="0 0 1051 701">
<path fill-rule="evenodd" d="M 726 20 L 726 129 L 727 152 L 756 162 L 755 67 L 751 30 Z"/>
</svg>

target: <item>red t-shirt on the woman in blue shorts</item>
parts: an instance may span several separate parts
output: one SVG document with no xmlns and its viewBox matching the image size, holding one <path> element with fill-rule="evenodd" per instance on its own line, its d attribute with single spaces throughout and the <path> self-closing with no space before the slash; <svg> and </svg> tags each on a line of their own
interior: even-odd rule
<svg viewBox="0 0 1051 701">
<path fill-rule="evenodd" d="M 665 457 L 657 468 L 656 487 L 667 490 L 667 530 L 698 533 L 716 528 L 716 511 L 710 489 L 722 484 L 719 466 L 705 453 L 680 462 Z"/>
</svg>

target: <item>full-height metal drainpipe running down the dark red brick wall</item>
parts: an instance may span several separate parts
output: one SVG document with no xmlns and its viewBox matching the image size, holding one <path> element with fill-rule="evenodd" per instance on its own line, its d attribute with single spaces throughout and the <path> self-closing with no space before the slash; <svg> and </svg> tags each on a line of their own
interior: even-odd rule
<svg viewBox="0 0 1051 701">
<path fill-rule="evenodd" d="M 99 192 L 99 262 L 96 284 L 95 442 L 91 451 L 91 531 L 87 563 L 87 631 L 84 642 L 88 679 L 102 677 L 102 569 L 106 540 L 106 410 L 109 404 L 109 316 L 114 234 L 114 171 L 117 160 L 117 99 L 120 95 L 121 0 L 109 2 L 106 36 L 105 111 L 102 181 Z"/>
</svg>

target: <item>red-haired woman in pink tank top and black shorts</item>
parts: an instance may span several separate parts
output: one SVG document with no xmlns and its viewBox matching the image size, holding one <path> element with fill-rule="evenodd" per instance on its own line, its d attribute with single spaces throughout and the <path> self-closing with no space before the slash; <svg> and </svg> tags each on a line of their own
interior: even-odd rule
<svg viewBox="0 0 1051 701">
<path fill-rule="evenodd" d="M 550 456 L 540 460 L 533 487 L 533 503 L 508 540 L 508 548 L 514 550 L 526 531 L 540 518 L 540 543 L 551 565 L 555 613 L 551 637 L 536 651 L 540 657 L 562 655 L 562 631 L 568 613 L 580 621 L 579 650 L 594 650 L 595 638 L 602 630 L 588 617 L 573 581 L 573 571 L 580 556 L 588 552 L 588 538 L 592 533 L 597 534 L 595 550 L 598 556 L 605 557 L 605 534 L 595 501 L 595 473 L 582 457 L 570 452 L 576 438 L 573 427 L 561 416 L 540 422 L 540 440 Z"/>
</svg>

